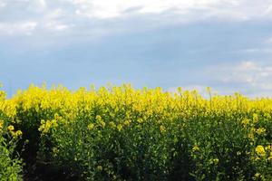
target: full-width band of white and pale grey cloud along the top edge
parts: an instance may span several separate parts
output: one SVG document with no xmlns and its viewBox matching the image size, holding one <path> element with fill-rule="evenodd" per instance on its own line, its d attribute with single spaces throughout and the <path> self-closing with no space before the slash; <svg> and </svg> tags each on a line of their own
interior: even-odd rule
<svg viewBox="0 0 272 181">
<path fill-rule="evenodd" d="M 269 18 L 269 15 L 263 14 L 270 11 L 267 8 L 269 5 L 269 0 L 0 0 L 0 8 L 4 10 L 0 11 L 0 23 L 3 29 L 5 24 L 20 26 L 24 22 L 36 22 L 39 33 L 43 33 L 43 30 L 59 32 L 71 27 L 74 31 L 82 31 L 82 26 L 89 30 L 109 30 L 107 25 L 102 24 L 103 21 L 143 16 L 153 24 L 179 24 L 206 18 L 245 21 Z M 148 26 L 149 23 L 145 24 Z M 22 33 L 11 32 L 9 34 Z"/>
</svg>

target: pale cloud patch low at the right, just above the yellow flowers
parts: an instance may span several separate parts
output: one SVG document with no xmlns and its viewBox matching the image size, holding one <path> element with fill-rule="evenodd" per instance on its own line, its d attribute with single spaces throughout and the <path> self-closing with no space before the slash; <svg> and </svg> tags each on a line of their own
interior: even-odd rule
<svg viewBox="0 0 272 181">
<path fill-rule="evenodd" d="M 218 81 L 221 81 L 221 92 L 228 87 L 232 92 L 239 91 L 251 97 L 272 96 L 271 62 L 243 61 L 231 65 L 221 64 L 209 68 L 209 71 L 213 71 Z"/>
</svg>

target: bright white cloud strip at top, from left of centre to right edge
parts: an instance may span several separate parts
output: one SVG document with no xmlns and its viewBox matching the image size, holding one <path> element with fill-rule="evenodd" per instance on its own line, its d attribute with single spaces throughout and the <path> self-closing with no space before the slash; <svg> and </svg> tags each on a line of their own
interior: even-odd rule
<svg viewBox="0 0 272 181">
<path fill-rule="evenodd" d="M 76 13 L 90 18 L 119 17 L 129 9 L 137 7 L 133 14 L 198 14 L 225 20 L 247 20 L 266 16 L 268 0 L 69 0 Z M 199 18 L 198 17 L 198 18 Z"/>
</svg>

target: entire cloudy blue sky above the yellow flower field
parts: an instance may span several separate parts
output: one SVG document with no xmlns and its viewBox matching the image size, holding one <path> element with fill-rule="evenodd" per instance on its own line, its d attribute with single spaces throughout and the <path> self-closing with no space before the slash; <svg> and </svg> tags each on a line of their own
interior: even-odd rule
<svg viewBox="0 0 272 181">
<path fill-rule="evenodd" d="M 272 97 L 271 0 L 0 0 L 0 82 Z"/>
</svg>

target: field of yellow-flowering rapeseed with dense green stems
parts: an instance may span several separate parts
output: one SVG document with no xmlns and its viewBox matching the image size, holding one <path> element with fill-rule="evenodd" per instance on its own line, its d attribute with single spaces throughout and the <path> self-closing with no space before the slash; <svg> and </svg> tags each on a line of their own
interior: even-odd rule
<svg viewBox="0 0 272 181">
<path fill-rule="evenodd" d="M 0 93 L 0 180 L 272 180 L 272 99 L 30 86 Z"/>
</svg>

